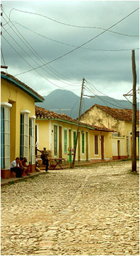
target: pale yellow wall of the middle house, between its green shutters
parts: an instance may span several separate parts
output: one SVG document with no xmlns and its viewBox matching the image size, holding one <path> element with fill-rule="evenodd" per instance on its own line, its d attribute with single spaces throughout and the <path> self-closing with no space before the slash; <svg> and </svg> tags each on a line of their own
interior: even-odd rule
<svg viewBox="0 0 140 256">
<path fill-rule="evenodd" d="M 57 120 L 38 120 L 36 119 L 36 125 L 38 127 L 38 143 L 39 149 L 49 149 L 51 151 L 51 157 L 59 157 L 59 126 L 62 127 L 62 158 L 68 160 L 69 156 L 64 153 L 64 129 L 67 130 L 67 148 L 69 148 L 69 130 L 71 130 L 71 147 L 73 148 L 73 132 L 77 131 L 77 125 L 67 124 Z M 57 125 L 57 156 L 54 156 L 53 145 L 53 128 Z M 85 152 L 82 153 L 82 136 L 81 131 L 85 133 Z M 101 159 L 101 136 L 104 136 L 104 158 L 111 159 L 112 157 L 112 137 L 111 132 L 101 132 L 80 127 L 80 161 L 86 160 L 86 132 L 88 132 L 88 159 Z M 99 155 L 95 156 L 94 152 L 94 134 L 99 135 Z M 76 150 L 76 161 L 78 160 L 78 144 Z"/>
</svg>

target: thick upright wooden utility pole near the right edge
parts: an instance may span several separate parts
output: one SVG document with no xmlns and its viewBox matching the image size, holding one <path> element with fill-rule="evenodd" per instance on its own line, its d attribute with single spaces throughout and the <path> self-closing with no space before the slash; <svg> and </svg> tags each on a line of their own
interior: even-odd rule
<svg viewBox="0 0 140 256">
<path fill-rule="evenodd" d="M 133 103 L 132 103 L 132 172 L 137 172 L 137 159 L 136 159 L 136 63 L 135 51 L 132 50 L 132 75 L 133 75 Z"/>
</svg>

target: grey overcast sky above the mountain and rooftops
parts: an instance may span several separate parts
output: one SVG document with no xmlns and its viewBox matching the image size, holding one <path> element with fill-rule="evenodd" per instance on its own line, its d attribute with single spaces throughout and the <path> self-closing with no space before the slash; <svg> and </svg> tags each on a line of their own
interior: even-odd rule
<svg viewBox="0 0 140 256">
<path fill-rule="evenodd" d="M 139 86 L 139 10 L 129 15 L 139 8 L 139 1 L 1 3 L 1 65 L 8 65 L 9 74 L 40 95 L 58 88 L 80 95 L 85 77 L 85 94 L 125 99 L 123 94 L 132 89 L 132 49 Z M 111 31 L 104 30 L 114 24 Z M 83 47 L 76 49 L 80 45 Z"/>
</svg>

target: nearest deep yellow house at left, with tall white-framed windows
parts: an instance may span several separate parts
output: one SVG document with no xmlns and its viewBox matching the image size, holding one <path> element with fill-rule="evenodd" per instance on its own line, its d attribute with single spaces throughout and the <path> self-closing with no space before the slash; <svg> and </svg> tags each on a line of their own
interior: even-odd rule
<svg viewBox="0 0 140 256">
<path fill-rule="evenodd" d="M 17 78 L 1 72 L 1 176 L 15 157 L 35 161 L 35 105 L 43 97 Z M 7 172 L 8 173 L 8 172 Z"/>
</svg>

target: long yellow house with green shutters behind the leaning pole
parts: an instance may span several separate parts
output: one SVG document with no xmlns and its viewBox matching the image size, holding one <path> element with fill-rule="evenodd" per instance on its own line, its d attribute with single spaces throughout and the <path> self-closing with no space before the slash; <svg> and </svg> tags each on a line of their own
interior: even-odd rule
<svg viewBox="0 0 140 256">
<path fill-rule="evenodd" d="M 77 120 L 36 107 L 36 145 L 50 150 L 51 158 L 69 161 L 69 149 L 74 150 Z M 80 122 L 76 161 L 112 159 L 112 130 Z"/>
</svg>

